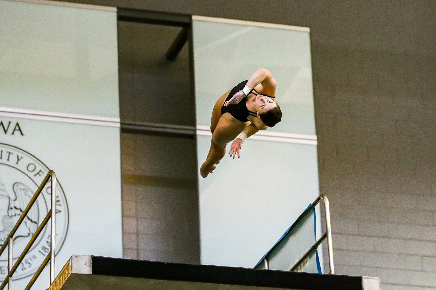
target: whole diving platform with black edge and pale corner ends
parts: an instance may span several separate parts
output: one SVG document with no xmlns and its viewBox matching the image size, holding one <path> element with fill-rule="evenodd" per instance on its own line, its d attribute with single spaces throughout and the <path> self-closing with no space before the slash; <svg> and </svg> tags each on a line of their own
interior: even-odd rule
<svg viewBox="0 0 436 290">
<path fill-rule="evenodd" d="M 380 290 L 359 277 L 73 255 L 48 290 Z"/>
</svg>

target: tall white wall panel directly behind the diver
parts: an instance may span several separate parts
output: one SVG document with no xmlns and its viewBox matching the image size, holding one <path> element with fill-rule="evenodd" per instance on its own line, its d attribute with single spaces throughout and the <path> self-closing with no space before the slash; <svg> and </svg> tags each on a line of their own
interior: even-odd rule
<svg viewBox="0 0 436 290">
<path fill-rule="evenodd" d="M 264 67 L 278 83 L 283 112 L 268 133 L 316 138 L 308 29 L 194 20 L 193 35 L 198 126 L 210 127 L 221 94 Z M 212 174 L 198 177 L 201 263 L 254 267 L 319 195 L 316 145 L 252 139 L 240 159 L 226 154 Z M 198 167 L 210 140 L 197 135 Z"/>
</svg>

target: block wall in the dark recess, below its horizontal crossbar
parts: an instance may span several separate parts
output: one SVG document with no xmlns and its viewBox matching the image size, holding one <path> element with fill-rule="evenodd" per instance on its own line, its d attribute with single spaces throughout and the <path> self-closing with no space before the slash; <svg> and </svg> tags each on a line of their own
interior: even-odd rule
<svg viewBox="0 0 436 290">
<path fill-rule="evenodd" d="M 200 263 L 195 141 L 121 134 L 123 257 Z M 163 166 L 170 164 L 170 166 Z"/>
</svg>

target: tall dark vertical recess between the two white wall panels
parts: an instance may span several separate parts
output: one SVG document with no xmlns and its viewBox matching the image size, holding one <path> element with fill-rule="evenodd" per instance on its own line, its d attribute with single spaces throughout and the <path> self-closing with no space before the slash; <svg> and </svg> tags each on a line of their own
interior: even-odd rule
<svg viewBox="0 0 436 290">
<path fill-rule="evenodd" d="M 198 264 L 191 17 L 117 14 L 125 257 Z"/>
</svg>

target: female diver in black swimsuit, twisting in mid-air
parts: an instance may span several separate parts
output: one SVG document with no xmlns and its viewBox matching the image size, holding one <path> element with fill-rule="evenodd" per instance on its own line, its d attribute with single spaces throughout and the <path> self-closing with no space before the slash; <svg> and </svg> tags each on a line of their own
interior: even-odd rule
<svg viewBox="0 0 436 290">
<path fill-rule="evenodd" d="M 228 154 L 242 148 L 242 142 L 259 130 L 273 127 L 282 119 L 274 100 L 276 80 L 269 70 L 260 68 L 249 78 L 228 90 L 215 103 L 211 121 L 211 149 L 201 165 L 200 174 L 207 177 L 225 155 L 226 145 L 233 141 Z M 239 134 L 239 135 L 238 135 Z"/>
</svg>

